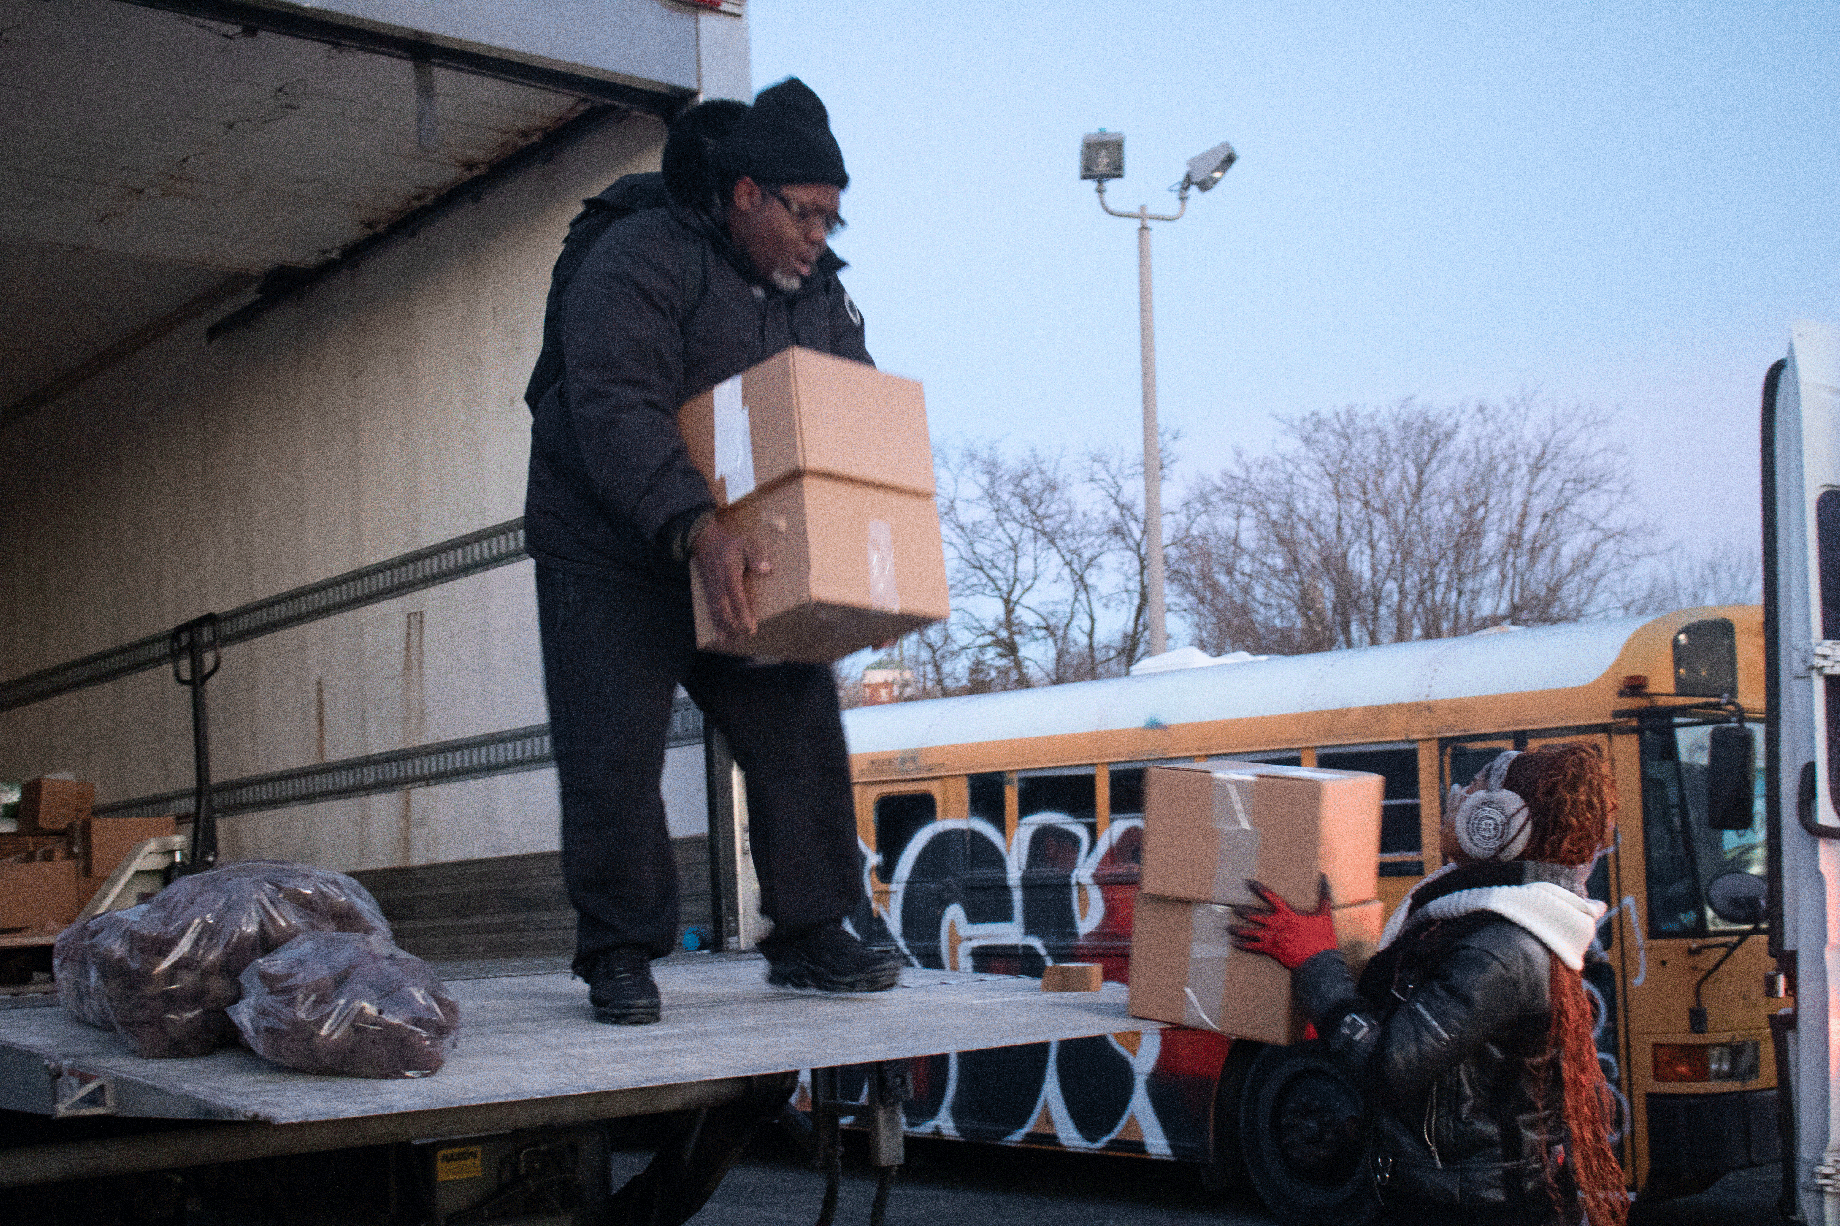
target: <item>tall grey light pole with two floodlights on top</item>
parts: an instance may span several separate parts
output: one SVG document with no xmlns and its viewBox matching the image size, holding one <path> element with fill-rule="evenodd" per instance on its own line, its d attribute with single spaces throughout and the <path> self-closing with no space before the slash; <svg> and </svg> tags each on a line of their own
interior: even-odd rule
<svg viewBox="0 0 1840 1226">
<path fill-rule="evenodd" d="M 1150 586 L 1150 654 L 1161 656 L 1168 651 L 1168 634 L 1163 627 L 1163 454 L 1157 447 L 1156 425 L 1156 320 L 1150 309 L 1150 222 L 1179 221 L 1189 211 L 1189 187 L 1211 189 L 1222 175 L 1238 162 L 1233 145 L 1222 142 L 1207 153 L 1189 158 L 1189 169 L 1181 176 L 1176 193 L 1174 213 L 1152 213 L 1148 204 L 1137 206 L 1135 213 L 1121 213 L 1106 204 L 1106 180 L 1124 178 L 1124 132 L 1087 132 L 1080 138 L 1080 178 L 1095 180 L 1098 189 L 1098 208 L 1113 217 L 1137 219 L 1137 320 L 1143 346 L 1144 380 L 1144 568 Z"/>
</svg>

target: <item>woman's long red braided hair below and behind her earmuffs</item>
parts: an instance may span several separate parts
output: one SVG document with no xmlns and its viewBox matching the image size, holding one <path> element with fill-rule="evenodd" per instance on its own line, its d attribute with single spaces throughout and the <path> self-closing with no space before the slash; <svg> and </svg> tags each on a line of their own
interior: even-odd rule
<svg viewBox="0 0 1840 1226">
<path fill-rule="evenodd" d="M 1616 822 L 1616 778 L 1595 744 L 1573 741 L 1522 754 L 1509 763 L 1505 787 L 1527 801 L 1533 822 L 1524 858 L 1584 866 L 1608 842 Z M 1616 1099 L 1597 1062 L 1597 1018 L 1584 993 L 1584 976 L 1557 958 L 1551 1009 L 1553 1024 L 1540 1066 L 1551 1068 L 1551 1057 L 1558 1057 L 1562 1116 L 1571 1134 L 1564 1164 L 1571 1167 L 1592 1226 L 1625 1226 L 1628 1193 L 1623 1167 L 1610 1149 Z M 1536 1084 L 1544 1092 L 1547 1077 L 1538 1077 Z M 1549 1160 L 1551 1143 L 1540 1152 Z M 1551 1184 L 1551 1167 L 1546 1175 Z"/>
</svg>

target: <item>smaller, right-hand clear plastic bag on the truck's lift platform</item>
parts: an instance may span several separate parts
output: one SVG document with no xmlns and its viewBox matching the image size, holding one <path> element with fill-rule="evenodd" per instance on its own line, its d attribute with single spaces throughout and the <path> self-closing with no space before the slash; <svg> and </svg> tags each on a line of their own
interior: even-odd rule
<svg viewBox="0 0 1840 1226">
<path fill-rule="evenodd" d="M 250 963 L 230 1020 L 256 1055 L 340 1077 L 427 1077 L 460 1039 L 429 963 L 361 932 L 309 932 Z"/>
</svg>

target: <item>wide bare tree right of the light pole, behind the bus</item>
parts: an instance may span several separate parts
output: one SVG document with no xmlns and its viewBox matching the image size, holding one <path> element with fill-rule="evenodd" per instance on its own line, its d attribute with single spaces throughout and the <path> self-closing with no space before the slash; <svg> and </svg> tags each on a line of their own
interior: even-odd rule
<svg viewBox="0 0 1840 1226">
<path fill-rule="evenodd" d="M 1279 417 L 1194 487 L 1172 550 L 1203 651 L 1303 653 L 1573 621 L 1649 557 L 1606 414 L 1522 395 Z"/>
</svg>

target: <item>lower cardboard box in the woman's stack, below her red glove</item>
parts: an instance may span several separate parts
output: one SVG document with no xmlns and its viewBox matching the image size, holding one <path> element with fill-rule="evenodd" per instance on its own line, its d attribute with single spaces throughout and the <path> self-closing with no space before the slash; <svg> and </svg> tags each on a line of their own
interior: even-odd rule
<svg viewBox="0 0 1840 1226">
<path fill-rule="evenodd" d="M 1358 978 L 1380 945 L 1386 904 L 1334 910 L 1336 941 Z M 1233 910 L 1137 895 L 1132 919 L 1132 1016 L 1213 1029 L 1259 1042 L 1299 1042 L 1306 1018 L 1290 994 L 1290 971 L 1266 954 L 1233 948 Z"/>
</svg>

